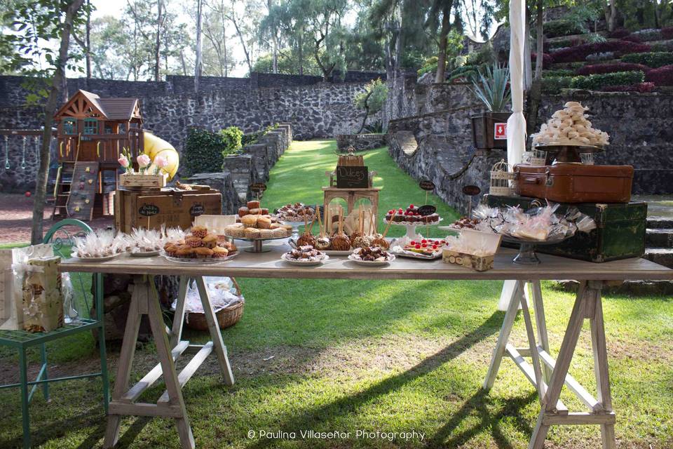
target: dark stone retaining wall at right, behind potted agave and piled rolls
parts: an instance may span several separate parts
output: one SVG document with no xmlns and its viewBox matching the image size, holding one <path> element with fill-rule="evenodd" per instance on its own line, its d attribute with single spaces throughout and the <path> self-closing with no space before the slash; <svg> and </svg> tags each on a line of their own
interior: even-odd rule
<svg viewBox="0 0 673 449">
<path fill-rule="evenodd" d="M 464 84 L 418 84 L 406 76 L 389 85 L 390 154 L 407 173 L 433 180 L 436 193 L 464 211 L 463 185 L 487 193 L 490 167 L 506 158 L 498 150 L 479 154 L 473 149 L 469 116 L 481 105 Z M 594 127 L 611 135 L 611 145 L 596 163 L 634 166 L 634 194 L 673 193 L 673 95 L 550 95 L 542 100 L 536 128 L 569 100 L 589 107 Z"/>
</svg>

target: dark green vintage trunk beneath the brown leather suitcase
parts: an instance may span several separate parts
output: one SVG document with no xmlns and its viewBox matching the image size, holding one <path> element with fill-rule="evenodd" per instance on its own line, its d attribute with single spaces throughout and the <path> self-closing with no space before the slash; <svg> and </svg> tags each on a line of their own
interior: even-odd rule
<svg viewBox="0 0 673 449">
<path fill-rule="evenodd" d="M 523 196 L 485 195 L 482 201 L 491 207 L 518 205 L 525 210 L 535 199 Z M 608 262 L 644 255 L 647 203 L 562 204 L 557 212 L 564 213 L 572 206 L 592 217 L 596 221 L 597 229 L 589 234 L 578 232 L 571 239 L 558 245 L 539 246 L 537 248 L 539 253 L 590 262 Z"/>
</svg>

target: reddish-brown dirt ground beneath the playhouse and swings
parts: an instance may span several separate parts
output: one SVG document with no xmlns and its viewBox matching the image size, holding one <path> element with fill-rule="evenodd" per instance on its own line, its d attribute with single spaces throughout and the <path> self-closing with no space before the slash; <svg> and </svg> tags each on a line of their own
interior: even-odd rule
<svg viewBox="0 0 673 449">
<path fill-rule="evenodd" d="M 44 211 L 44 229 L 49 229 L 52 208 Z M 30 227 L 33 215 L 33 199 L 22 194 L 0 194 L 0 243 L 30 241 Z M 105 228 L 113 223 L 112 217 L 97 218 L 89 225 L 94 229 Z"/>
</svg>

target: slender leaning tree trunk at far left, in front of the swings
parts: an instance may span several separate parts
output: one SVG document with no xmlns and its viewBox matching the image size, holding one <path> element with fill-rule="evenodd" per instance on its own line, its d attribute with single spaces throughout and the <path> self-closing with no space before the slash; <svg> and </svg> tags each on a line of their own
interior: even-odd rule
<svg viewBox="0 0 673 449">
<path fill-rule="evenodd" d="M 42 131 L 42 147 L 40 149 L 40 165 L 35 179 L 35 196 L 33 199 L 33 224 L 30 231 L 30 242 L 32 244 L 42 243 L 43 238 L 43 217 L 44 201 L 47 194 L 47 178 L 49 175 L 50 164 L 50 142 L 51 126 L 54 121 L 54 113 L 58 101 L 58 94 L 65 78 L 65 65 L 68 60 L 68 46 L 70 43 L 70 34 L 72 32 L 72 22 L 84 4 L 84 0 L 74 0 L 65 11 L 65 18 L 61 27 L 61 42 L 58 49 L 57 66 L 51 81 L 51 88 L 44 106 L 44 129 Z"/>
</svg>

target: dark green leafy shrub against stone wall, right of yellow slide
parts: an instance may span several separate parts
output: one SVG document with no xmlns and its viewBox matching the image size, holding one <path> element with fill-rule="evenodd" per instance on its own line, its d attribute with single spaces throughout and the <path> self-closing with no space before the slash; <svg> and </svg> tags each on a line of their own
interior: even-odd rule
<svg viewBox="0 0 673 449">
<path fill-rule="evenodd" d="M 203 128 L 187 130 L 184 157 L 180 161 L 185 175 L 217 173 L 222 170 L 224 155 L 240 150 L 240 138 L 243 136 L 240 129 L 231 126 L 222 131 L 224 134 L 213 133 Z"/>
</svg>

